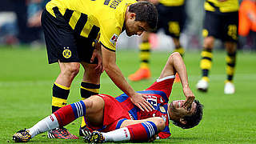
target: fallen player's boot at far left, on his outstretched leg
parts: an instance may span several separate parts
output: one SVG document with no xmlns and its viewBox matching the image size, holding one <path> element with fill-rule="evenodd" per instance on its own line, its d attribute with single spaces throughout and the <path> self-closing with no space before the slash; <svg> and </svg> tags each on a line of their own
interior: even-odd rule
<svg viewBox="0 0 256 144">
<path fill-rule="evenodd" d="M 31 135 L 29 130 L 19 130 L 17 133 L 14 134 L 13 140 L 14 142 L 28 142 L 31 139 Z"/>
</svg>

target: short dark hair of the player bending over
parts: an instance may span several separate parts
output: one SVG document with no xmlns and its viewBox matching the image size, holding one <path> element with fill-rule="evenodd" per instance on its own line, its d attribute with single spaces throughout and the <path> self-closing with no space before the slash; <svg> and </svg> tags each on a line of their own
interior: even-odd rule
<svg viewBox="0 0 256 144">
<path fill-rule="evenodd" d="M 136 14 L 135 21 L 146 22 L 152 31 L 157 28 L 158 10 L 152 3 L 136 2 L 130 5 L 129 12 Z"/>
</svg>

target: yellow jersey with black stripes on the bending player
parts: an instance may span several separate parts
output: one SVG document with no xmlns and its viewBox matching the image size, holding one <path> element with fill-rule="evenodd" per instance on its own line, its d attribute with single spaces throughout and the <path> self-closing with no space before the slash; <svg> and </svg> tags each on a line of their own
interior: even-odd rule
<svg viewBox="0 0 256 144">
<path fill-rule="evenodd" d="M 51 0 L 46 10 L 54 17 L 54 7 L 65 18 L 70 15 L 69 25 L 82 37 L 88 38 L 99 28 L 99 42 L 109 50 L 116 50 L 116 41 L 122 33 L 127 6 L 135 0 Z"/>
</svg>

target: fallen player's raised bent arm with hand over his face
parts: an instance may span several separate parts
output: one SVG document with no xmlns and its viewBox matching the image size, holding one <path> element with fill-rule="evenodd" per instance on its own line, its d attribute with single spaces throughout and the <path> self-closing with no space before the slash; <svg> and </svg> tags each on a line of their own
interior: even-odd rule
<svg viewBox="0 0 256 144">
<path fill-rule="evenodd" d="M 187 74 L 186 74 L 186 66 L 183 62 L 183 59 L 178 52 L 175 52 L 170 55 L 168 61 L 166 62 L 166 66 L 162 70 L 159 78 L 165 78 L 170 75 L 174 75 L 178 72 L 179 77 L 181 78 L 183 93 L 186 96 L 186 101 L 184 106 L 186 108 L 190 108 L 192 102 L 194 101 L 194 94 L 190 89 Z"/>
</svg>

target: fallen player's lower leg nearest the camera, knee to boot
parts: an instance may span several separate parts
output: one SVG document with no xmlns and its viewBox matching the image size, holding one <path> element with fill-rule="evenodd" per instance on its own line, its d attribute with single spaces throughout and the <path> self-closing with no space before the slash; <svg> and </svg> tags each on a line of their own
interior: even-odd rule
<svg viewBox="0 0 256 144">
<path fill-rule="evenodd" d="M 87 142 L 146 142 L 164 130 L 166 124 L 160 117 L 146 118 L 143 120 L 125 120 L 122 122 L 120 129 L 113 130 L 107 133 L 99 133 L 94 131 L 90 137 L 86 138 Z"/>
</svg>

